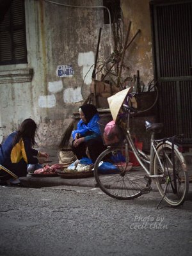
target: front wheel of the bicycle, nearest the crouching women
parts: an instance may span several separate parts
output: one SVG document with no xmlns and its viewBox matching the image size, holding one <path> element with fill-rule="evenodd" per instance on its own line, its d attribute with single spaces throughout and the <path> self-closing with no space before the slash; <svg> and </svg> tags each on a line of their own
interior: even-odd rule
<svg viewBox="0 0 192 256">
<path fill-rule="evenodd" d="M 146 193 L 148 182 L 144 179 L 143 169 L 134 170 L 129 163 L 125 163 L 125 149 L 108 148 L 97 158 L 94 175 L 100 189 L 107 195 L 129 200 Z"/>
</svg>

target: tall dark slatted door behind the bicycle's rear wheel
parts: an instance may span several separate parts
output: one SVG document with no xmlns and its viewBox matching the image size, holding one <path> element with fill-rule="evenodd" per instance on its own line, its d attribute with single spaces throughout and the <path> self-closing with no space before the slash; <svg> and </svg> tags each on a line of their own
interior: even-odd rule
<svg viewBox="0 0 192 256">
<path fill-rule="evenodd" d="M 162 135 L 192 138 L 192 1 L 151 1 L 150 11 Z"/>
</svg>

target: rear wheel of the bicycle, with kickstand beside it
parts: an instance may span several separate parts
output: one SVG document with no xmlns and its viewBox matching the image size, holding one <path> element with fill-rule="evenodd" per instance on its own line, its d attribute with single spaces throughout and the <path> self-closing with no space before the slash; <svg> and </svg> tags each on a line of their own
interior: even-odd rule
<svg viewBox="0 0 192 256">
<path fill-rule="evenodd" d="M 159 156 L 159 160 L 157 155 Z M 173 191 L 175 185 L 173 179 L 172 159 L 172 144 L 161 143 L 161 145 L 157 147 L 157 154 L 154 154 L 154 174 L 163 174 L 163 177 L 156 178 L 156 185 L 164 200 L 170 205 L 179 206 L 184 203 L 186 195 L 188 194 L 189 178 L 184 157 L 175 146 L 175 183 L 177 184 L 177 189 L 176 191 Z M 159 161 L 161 161 L 163 169 L 161 168 Z"/>
</svg>

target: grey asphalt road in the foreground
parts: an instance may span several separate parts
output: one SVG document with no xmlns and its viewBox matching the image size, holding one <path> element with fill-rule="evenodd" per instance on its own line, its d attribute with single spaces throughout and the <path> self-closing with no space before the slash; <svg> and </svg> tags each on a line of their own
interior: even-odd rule
<svg viewBox="0 0 192 256">
<path fill-rule="evenodd" d="M 0 195 L 0 256 L 191 255 L 191 200 L 156 209 L 156 192 L 122 201 L 70 186 Z"/>
</svg>

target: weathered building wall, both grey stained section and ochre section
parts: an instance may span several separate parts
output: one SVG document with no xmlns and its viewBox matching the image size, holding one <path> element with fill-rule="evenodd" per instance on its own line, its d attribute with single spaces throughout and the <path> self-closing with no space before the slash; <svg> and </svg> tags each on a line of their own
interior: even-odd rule
<svg viewBox="0 0 192 256">
<path fill-rule="evenodd" d="M 30 117 L 38 124 L 38 145 L 54 147 L 72 121 L 72 113 L 83 103 L 83 81 L 84 90 L 89 90 L 99 28 L 100 58 L 113 50 L 111 34 L 109 25 L 103 24 L 102 8 L 67 7 L 43 0 L 25 3 L 28 64 L 0 66 L 0 136 Z M 68 4 L 102 6 L 102 1 L 74 0 Z M 130 38 L 141 29 L 126 52 L 128 75 L 139 69 L 141 80 L 147 83 L 153 74 L 148 0 L 123 0 L 122 9 L 125 27 L 132 21 Z M 65 65 L 72 67 L 72 74 L 64 77 L 60 72 L 59 77 L 58 70 Z"/>
</svg>

